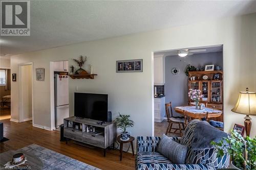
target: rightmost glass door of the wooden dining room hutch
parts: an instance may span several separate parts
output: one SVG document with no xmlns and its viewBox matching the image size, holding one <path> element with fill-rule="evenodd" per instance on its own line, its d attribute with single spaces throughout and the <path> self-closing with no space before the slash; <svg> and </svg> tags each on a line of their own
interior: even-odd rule
<svg viewBox="0 0 256 170">
<path fill-rule="evenodd" d="M 222 102 L 222 84 L 221 81 L 211 81 L 211 101 L 219 103 Z"/>
</svg>

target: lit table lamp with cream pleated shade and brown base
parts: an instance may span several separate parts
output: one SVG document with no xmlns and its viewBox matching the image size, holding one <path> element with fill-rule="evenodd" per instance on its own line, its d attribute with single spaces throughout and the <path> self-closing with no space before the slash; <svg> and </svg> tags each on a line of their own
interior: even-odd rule
<svg viewBox="0 0 256 170">
<path fill-rule="evenodd" d="M 248 88 L 246 88 L 246 92 L 240 92 L 238 102 L 231 111 L 246 114 L 244 117 L 245 132 L 246 136 L 250 136 L 251 118 L 249 115 L 256 115 L 256 93 L 249 92 Z"/>
</svg>

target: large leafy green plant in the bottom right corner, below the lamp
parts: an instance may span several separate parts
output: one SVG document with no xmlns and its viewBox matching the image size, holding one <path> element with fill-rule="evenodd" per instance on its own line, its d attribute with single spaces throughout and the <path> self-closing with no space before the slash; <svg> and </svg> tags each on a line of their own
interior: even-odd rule
<svg viewBox="0 0 256 170">
<path fill-rule="evenodd" d="M 217 157 L 228 153 L 231 157 L 231 168 L 256 169 L 256 136 L 244 138 L 236 130 L 220 142 L 211 141 L 217 149 Z M 233 166 L 233 167 L 232 167 Z"/>
</svg>

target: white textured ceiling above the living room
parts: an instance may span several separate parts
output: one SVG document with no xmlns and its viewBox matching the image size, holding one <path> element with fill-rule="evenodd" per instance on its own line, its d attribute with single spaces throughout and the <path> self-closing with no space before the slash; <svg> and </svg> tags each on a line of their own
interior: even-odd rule
<svg viewBox="0 0 256 170">
<path fill-rule="evenodd" d="M 256 11 L 256 1 L 31 1 L 31 36 L 1 37 L 8 56 Z"/>
</svg>

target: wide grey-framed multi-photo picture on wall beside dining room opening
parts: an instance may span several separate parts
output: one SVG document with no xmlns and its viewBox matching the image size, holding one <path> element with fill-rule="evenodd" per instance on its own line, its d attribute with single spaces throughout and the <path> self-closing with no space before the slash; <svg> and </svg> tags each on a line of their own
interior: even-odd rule
<svg viewBox="0 0 256 170">
<path fill-rule="evenodd" d="M 143 60 L 116 61 L 116 72 L 143 72 Z"/>
</svg>

